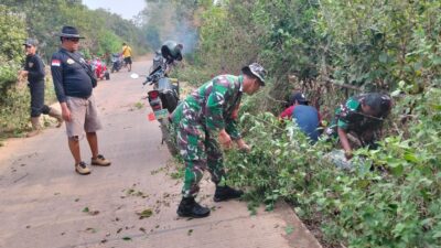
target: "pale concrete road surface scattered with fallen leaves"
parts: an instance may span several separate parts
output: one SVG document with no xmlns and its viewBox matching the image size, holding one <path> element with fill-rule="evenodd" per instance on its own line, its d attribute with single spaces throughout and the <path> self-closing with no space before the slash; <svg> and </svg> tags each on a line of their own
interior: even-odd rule
<svg viewBox="0 0 441 248">
<path fill-rule="evenodd" d="M 133 72 L 149 66 L 135 62 Z M 104 123 L 99 149 L 109 168 L 76 174 L 64 126 L 0 148 L 0 247 L 320 247 L 286 205 L 251 216 L 244 202 L 214 203 L 205 179 L 198 197 L 212 215 L 179 218 L 181 180 L 171 176 L 175 166 L 158 122 L 147 119 L 141 82 L 123 71 L 95 89 Z M 84 137 L 80 145 L 89 163 Z"/>
</svg>

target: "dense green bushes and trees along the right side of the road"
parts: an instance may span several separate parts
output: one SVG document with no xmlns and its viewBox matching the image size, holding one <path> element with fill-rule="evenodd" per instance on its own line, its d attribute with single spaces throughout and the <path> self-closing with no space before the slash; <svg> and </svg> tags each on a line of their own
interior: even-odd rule
<svg viewBox="0 0 441 248">
<path fill-rule="evenodd" d="M 270 75 L 268 87 L 241 106 L 254 148 L 227 153 L 232 183 L 251 188 L 251 202 L 268 209 L 279 198 L 292 203 L 331 246 L 441 246 L 440 11 L 434 0 L 205 6 L 194 64 L 179 77 L 202 84 L 207 72 L 236 74 L 251 61 Z M 358 150 L 353 171 L 323 158 L 330 143 L 310 145 L 291 122 L 265 112 L 280 112 L 292 89 L 331 112 L 354 94 L 342 84 L 397 97 L 388 138 L 378 150 Z"/>
</svg>

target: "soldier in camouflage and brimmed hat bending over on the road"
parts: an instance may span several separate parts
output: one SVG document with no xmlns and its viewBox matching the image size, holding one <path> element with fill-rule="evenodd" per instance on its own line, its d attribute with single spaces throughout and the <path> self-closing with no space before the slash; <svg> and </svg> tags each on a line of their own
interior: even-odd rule
<svg viewBox="0 0 441 248">
<path fill-rule="evenodd" d="M 252 95 L 265 86 L 265 69 L 257 63 L 245 66 L 243 75 L 220 75 L 205 83 L 182 101 L 172 114 L 178 147 L 185 161 L 185 179 L 178 215 L 206 217 L 209 208 L 195 202 L 203 172 L 208 169 L 216 184 L 215 202 L 239 197 L 243 192 L 225 184 L 223 154 L 217 142 L 249 150 L 237 130 L 235 117 L 243 93 Z"/>
</svg>

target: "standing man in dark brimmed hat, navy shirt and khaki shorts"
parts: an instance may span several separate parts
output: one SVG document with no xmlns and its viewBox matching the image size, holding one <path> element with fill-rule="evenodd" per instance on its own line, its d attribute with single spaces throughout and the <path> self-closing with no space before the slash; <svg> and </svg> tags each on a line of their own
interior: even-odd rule
<svg viewBox="0 0 441 248">
<path fill-rule="evenodd" d="M 90 163 L 108 166 L 110 161 L 98 152 L 96 131 L 101 129 L 101 122 L 93 95 L 96 80 L 93 78 L 90 67 L 77 52 L 80 39 L 84 37 L 74 26 L 63 26 L 60 34 L 62 47 L 52 55 L 51 71 L 62 116 L 66 121 L 68 147 L 75 160 L 75 171 L 84 175 L 89 174 L 90 169 L 82 160 L 79 152 L 79 138 L 83 131 L 86 131 L 92 151 Z"/>
</svg>

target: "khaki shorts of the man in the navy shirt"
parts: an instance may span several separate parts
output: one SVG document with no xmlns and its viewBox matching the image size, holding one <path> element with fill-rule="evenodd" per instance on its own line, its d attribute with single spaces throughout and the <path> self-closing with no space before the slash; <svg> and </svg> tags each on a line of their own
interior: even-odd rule
<svg viewBox="0 0 441 248">
<path fill-rule="evenodd" d="M 72 118 L 66 121 L 67 137 L 80 137 L 83 131 L 95 132 L 101 129 L 94 95 L 87 99 L 68 96 L 66 104 Z"/>
</svg>

